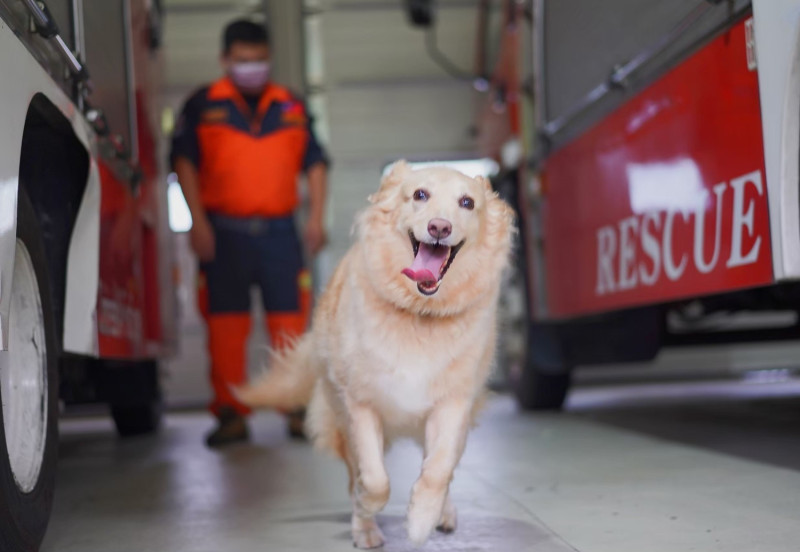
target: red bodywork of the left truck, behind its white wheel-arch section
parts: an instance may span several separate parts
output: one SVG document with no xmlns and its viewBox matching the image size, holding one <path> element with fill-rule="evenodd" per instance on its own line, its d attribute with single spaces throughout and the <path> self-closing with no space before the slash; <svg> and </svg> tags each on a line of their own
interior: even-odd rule
<svg viewBox="0 0 800 552">
<path fill-rule="evenodd" d="M 131 4 L 135 61 L 136 128 L 140 187 L 131 185 L 98 160 L 100 173 L 100 285 L 97 298 L 98 349 L 104 358 L 145 358 L 164 352 L 162 258 L 158 243 L 158 144 L 148 80 L 149 35 L 146 3 Z"/>
</svg>

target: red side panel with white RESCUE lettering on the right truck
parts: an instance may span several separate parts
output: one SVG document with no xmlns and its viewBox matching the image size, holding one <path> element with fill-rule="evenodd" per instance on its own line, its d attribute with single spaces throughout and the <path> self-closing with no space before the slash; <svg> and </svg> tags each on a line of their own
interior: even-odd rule
<svg viewBox="0 0 800 552">
<path fill-rule="evenodd" d="M 543 166 L 548 317 L 773 281 L 742 21 Z"/>
</svg>

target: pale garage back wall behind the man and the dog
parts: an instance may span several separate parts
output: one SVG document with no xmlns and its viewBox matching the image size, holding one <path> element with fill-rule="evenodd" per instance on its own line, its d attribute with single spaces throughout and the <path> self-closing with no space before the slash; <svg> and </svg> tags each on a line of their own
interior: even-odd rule
<svg viewBox="0 0 800 552">
<path fill-rule="evenodd" d="M 503 4 L 443 0 L 435 28 L 426 29 L 412 26 L 406 4 L 395 0 L 163 0 L 164 135 L 183 101 L 220 75 L 225 24 L 242 16 L 269 21 L 274 79 L 306 97 L 333 160 L 330 243 L 314 266 L 319 290 L 349 247 L 353 216 L 377 189 L 387 164 L 402 158 L 451 161 L 468 173 L 497 173 L 497 162 L 478 147 L 476 114 L 486 102 L 489 60 L 500 45 Z M 481 37 L 485 53 L 478 59 Z M 196 263 L 182 233 L 191 219 L 174 178 L 169 186 L 170 221 L 178 232 L 181 340 L 177 358 L 167 363 L 165 392 L 173 406 L 196 406 L 209 393 L 205 329 L 194 293 Z M 260 315 L 257 301 L 253 314 Z M 262 326 L 254 324 L 253 369 L 265 345 Z"/>
</svg>

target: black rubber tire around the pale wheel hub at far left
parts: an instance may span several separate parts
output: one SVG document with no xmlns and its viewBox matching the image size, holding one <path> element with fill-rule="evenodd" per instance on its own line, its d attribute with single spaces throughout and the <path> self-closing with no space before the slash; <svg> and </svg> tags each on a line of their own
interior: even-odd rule
<svg viewBox="0 0 800 552">
<path fill-rule="evenodd" d="M 3 412 L 0 410 L 0 550 L 4 552 L 39 549 L 50 519 L 58 460 L 58 341 L 44 243 L 36 214 L 23 190 L 19 192 L 17 206 L 17 239 L 24 244 L 31 258 L 39 287 L 47 348 L 48 400 L 42 465 L 30 492 L 20 489 L 11 471 Z"/>
</svg>

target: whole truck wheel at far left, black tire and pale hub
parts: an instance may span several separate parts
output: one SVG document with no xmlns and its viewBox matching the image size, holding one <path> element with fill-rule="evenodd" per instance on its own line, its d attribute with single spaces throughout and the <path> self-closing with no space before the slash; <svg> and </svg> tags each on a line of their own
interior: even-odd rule
<svg viewBox="0 0 800 552">
<path fill-rule="evenodd" d="M 58 457 L 55 325 L 41 232 L 19 193 L 17 242 L 0 352 L 0 549 L 38 550 L 47 529 Z"/>
</svg>

